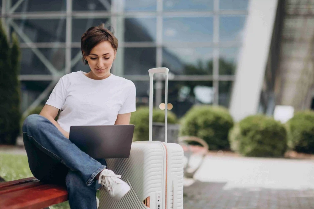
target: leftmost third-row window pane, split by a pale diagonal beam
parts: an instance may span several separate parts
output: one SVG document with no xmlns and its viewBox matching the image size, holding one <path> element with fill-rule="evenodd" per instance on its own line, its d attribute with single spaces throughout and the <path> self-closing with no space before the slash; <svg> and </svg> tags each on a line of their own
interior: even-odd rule
<svg viewBox="0 0 314 209">
<path fill-rule="evenodd" d="M 39 48 L 42 55 L 54 66 L 57 71 L 62 71 L 65 67 L 65 49 L 64 48 Z M 45 61 L 38 58 L 31 49 L 21 49 L 21 75 L 48 74 Z M 51 69 L 51 71 L 54 71 Z"/>
</svg>

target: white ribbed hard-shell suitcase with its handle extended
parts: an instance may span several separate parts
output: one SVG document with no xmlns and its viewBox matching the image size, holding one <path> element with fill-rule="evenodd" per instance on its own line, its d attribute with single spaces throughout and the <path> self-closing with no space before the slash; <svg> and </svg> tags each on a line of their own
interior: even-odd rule
<svg viewBox="0 0 314 209">
<path fill-rule="evenodd" d="M 168 72 L 168 68 L 149 69 L 149 141 L 133 142 L 129 158 L 106 159 L 108 169 L 122 175 L 131 190 L 114 201 L 101 187 L 99 209 L 183 209 L 183 149 L 167 143 L 167 128 L 165 142 L 152 141 L 153 75 L 166 75 L 167 107 Z"/>
</svg>

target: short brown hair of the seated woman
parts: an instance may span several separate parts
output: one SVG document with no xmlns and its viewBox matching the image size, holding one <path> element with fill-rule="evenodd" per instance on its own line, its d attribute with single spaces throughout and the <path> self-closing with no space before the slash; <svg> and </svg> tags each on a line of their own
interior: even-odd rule
<svg viewBox="0 0 314 209">
<path fill-rule="evenodd" d="M 90 51 L 100 42 L 109 41 L 114 50 L 118 49 L 118 39 L 113 35 L 112 32 L 105 28 L 105 24 L 89 28 L 81 37 L 81 51 L 83 55 L 83 61 L 88 64 L 87 60 L 84 59 L 84 55 L 89 55 Z"/>
</svg>

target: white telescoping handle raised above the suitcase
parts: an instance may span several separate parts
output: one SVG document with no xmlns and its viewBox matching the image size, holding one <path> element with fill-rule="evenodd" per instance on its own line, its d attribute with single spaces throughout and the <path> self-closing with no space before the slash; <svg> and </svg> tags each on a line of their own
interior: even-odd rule
<svg viewBox="0 0 314 209">
<path fill-rule="evenodd" d="M 167 143 L 167 107 L 168 107 L 168 73 L 169 69 L 166 67 L 152 68 L 148 70 L 149 73 L 149 141 L 153 140 L 153 76 L 154 73 L 164 73 L 165 81 L 165 143 Z"/>
</svg>

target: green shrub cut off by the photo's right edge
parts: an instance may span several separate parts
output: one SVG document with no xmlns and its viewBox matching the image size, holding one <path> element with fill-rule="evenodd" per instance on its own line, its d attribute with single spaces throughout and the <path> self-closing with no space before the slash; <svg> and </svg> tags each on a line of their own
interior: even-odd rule
<svg viewBox="0 0 314 209">
<path fill-rule="evenodd" d="M 288 147 L 297 152 L 314 153 L 314 112 L 295 113 L 286 124 Z"/>
</svg>

